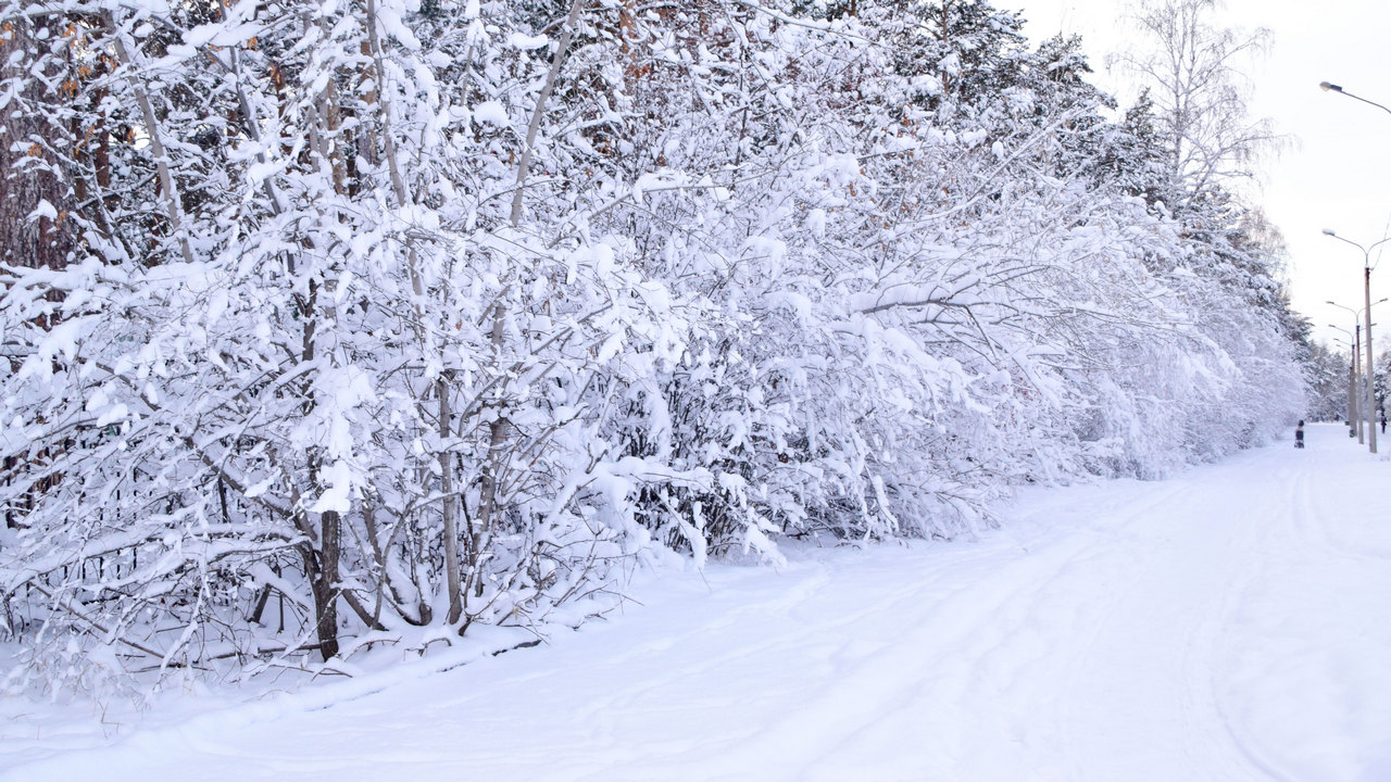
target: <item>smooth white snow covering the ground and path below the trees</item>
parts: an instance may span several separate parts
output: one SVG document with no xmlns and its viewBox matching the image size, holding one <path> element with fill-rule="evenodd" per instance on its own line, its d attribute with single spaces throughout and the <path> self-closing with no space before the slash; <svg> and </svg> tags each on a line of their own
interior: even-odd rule
<svg viewBox="0 0 1391 782">
<path fill-rule="evenodd" d="M 1385 781 L 1388 469 L 1313 426 L 1029 491 L 976 541 L 662 573 L 611 622 L 444 672 L 104 726 L 7 703 L 0 779 Z"/>
</svg>

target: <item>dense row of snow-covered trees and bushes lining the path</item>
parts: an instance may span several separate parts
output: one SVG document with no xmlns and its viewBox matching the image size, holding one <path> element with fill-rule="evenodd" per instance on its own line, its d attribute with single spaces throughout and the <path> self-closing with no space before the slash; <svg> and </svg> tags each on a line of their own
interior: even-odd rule
<svg viewBox="0 0 1391 782">
<path fill-rule="evenodd" d="M 1303 410 L 1209 0 L 1124 110 L 985 0 L 0 7 L 11 682 L 541 632 Z"/>
</svg>

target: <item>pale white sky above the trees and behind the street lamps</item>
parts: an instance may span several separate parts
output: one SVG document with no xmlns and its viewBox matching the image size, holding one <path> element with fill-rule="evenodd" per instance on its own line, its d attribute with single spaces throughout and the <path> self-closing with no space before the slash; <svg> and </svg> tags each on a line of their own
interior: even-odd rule
<svg viewBox="0 0 1391 782">
<path fill-rule="evenodd" d="M 1117 93 L 1123 106 L 1132 90 L 1106 68 L 1106 54 L 1138 46 L 1120 21 L 1118 0 L 995 0 L 1017 8 L 1025 32 L 1042 40 L 1066 31 L 1082 36 L 1096 71 L 1093 81 Z M 1323 235 L 1333 228 L 1362 245 L 1391 235 L 1391 113 L 1346 96 L 1323 92 L 1319 82 L 1391 106 L 1391 3 L 1385 0 L 1227 0 L 1227 26 L 1271 31 L 1271 49 L 1253 63 L 1252 117 L 1274 120 L 1291 145 L 1264 163 L 1260 202 L 1289 248 L 1288 281 L 1296 310 L 1309 316 L 1314 337 L 1340 337 L 1328 324 L 1351 328 L 1352 314 L 1328 306 L 1333 299 L 1362 308 L 1362 255 Z M 1391 242 L 1383 245 L 1391 249 Z M 1373 255 L 1376 262 L 1376 255 Z M 1391 296 L 1391 252 L 1372 273 L 1372 301 Z M 1373 308 L 1373 337 L 1391 334 L 1391 302 Z M 1374 340 L 1380 353 L 1385 338 Z"/>
</svg>

